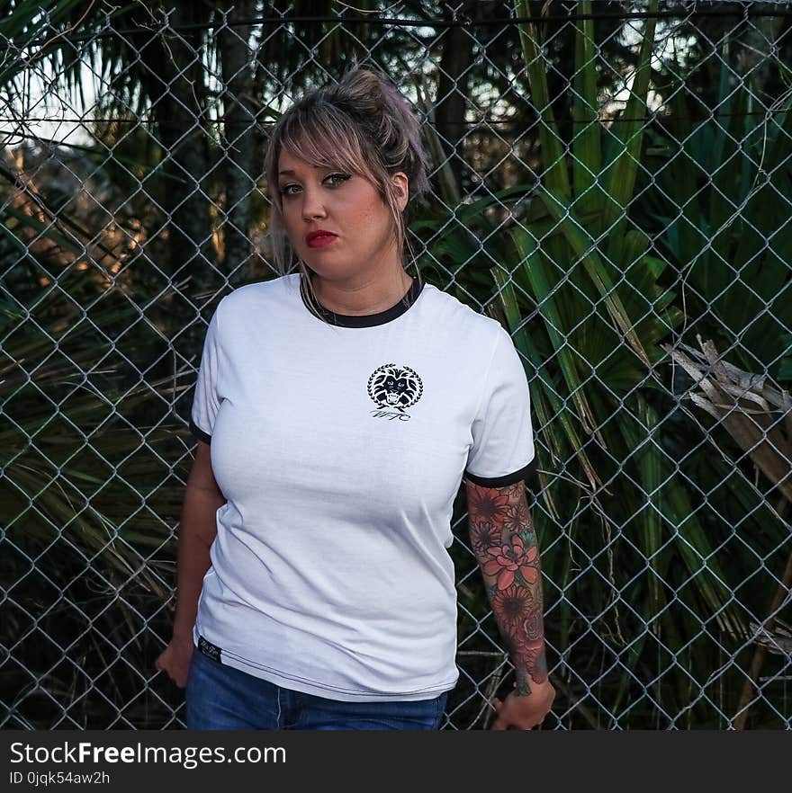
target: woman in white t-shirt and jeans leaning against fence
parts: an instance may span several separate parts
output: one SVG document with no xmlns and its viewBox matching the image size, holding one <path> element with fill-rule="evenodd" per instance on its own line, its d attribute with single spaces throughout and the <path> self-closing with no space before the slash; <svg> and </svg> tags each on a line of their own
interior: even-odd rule
<svg viewBox="0 0 792 793">
<path fill-rule="evenodd" d="M 509 516 L 529 521 L 526 375 L 498 322 L 404 270 L 402 213 L 426 165 L 419 121 L 363 68 L 275 125 L 284 274 L 211 318 L 174 636 L 157 659 L 186 685 L 191 729 L 437 729 L 459 677 L 447 548 L 463 474 L 519 664 L 494 728 L 550 708 L 534 535 L 521 526 L 518 548 L 502 534 Z"/>
</svg>

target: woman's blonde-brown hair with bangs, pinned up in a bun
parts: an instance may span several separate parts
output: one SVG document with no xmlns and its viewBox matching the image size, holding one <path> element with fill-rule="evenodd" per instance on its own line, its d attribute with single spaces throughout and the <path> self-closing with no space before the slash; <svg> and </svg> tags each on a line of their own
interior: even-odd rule
<svg viewBox="0 0 792 793">
<path fill-rule="evenodd" d="M 421 145 L 420 122 L 387 76 L 354 62 L 338 83 L 304 94 L 275 123 L 264 167 L 266 195 L 272 203 L 269 232 L 275 270 L 285 275 L 292 272 L 294 251 L 285 232 L 283 197 L 277 188 L 281 151 L 311 165 L 343 168 L 374 183 L 390 210 L 401 266 L 405 266 L 404 246 L 410 254 L 412 249 L 391 177 L 400 171 L 407 174 L 409 207 L 411 200 L 428 192 L 428 159 Z M 324 320 L 311 270 L 302 259 L 298 262 L 302 298 L 311 313 Z M 416 273 L 420 283 L 417 267 Z M 409 294 L 403 298 L 405 303 Z"/>
</svg>

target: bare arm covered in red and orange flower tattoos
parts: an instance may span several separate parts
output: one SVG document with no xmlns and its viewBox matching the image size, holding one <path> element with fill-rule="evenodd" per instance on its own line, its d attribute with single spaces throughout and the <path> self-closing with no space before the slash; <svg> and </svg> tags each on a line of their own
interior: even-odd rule
<svg viewBox="0 0 792 793">
<path fill-rule="evenodd" d="M 517 680 L 492 729 L 541 724 L 555 690 L 547 675 L 539 547 L 525 484 L 485 487 L 465 480 L 473 553 Z"/>
</svg>

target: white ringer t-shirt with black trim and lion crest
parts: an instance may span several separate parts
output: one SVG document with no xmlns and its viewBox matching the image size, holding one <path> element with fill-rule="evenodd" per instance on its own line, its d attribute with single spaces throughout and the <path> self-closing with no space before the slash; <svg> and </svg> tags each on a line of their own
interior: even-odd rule
<svg viewBox="0 0 792 793">
<path fill-rule="evenodd" d="M 222 664 L 345 701 L 454 688 L 455 495 L 533 473 L 530 403 L 499 322 L 408 296 L 332 325 L 297 272 L 220 300 L 190 426 L 228 499 L 193 628 Z"/>
</svg>

